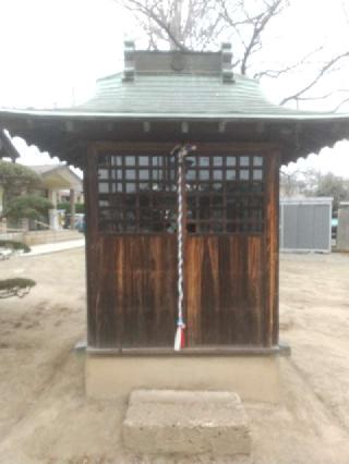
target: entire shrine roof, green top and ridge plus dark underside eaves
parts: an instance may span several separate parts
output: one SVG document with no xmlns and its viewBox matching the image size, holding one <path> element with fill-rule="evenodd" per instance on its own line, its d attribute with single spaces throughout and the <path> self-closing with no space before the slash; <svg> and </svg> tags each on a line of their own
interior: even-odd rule
<svg viewBox="0 0 349 464">
<path fill-rule="evenodd" d="M 77 166 L 89 139 L 267 142 L 281 145 L 288 162 L 349 137 L 349 114 L 274 105 L 257 82 L 232 76 L 229 60 L 227 47 L 154 52 L 129 42 L 124 72 L 99 80 L 91 100 L 60 110 L 1 110 L 0 125 Z"/>
</svg>

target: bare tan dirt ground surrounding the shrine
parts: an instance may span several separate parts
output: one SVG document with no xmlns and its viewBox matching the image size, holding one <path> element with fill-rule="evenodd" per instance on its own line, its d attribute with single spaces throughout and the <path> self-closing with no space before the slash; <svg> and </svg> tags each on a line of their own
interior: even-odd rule
<svg viewBox="0 0 349 464">
<path fill-rule="evenodd" d="M 229 463 L 124 453 L 125 404 L 84 395 L 84 252 L 0 262 L 0 278 L 29 277 L 23 300 L 0 301 L 0 463 Z M 282 255 L 281 404 L 245 403 L 254 464 L 349 463 L 349 256 Z M 207 461 L 208 460 L 208 461 Z"/>
</svg>

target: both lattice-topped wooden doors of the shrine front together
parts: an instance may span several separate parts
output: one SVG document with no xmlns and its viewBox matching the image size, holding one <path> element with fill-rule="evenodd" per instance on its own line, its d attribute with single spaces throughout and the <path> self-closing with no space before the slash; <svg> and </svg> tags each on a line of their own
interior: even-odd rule
<svg viewBox="0 0 349 464">
<path fill-rule="evenodd" d="M 173 346 L 178 164 L 171 148 L 104 144 L 91 157 L 91 345 Z M 266 151 L 198 145 L 184 170 L 188 345 L 272 345 L 277 163 Z"/>
</svg>

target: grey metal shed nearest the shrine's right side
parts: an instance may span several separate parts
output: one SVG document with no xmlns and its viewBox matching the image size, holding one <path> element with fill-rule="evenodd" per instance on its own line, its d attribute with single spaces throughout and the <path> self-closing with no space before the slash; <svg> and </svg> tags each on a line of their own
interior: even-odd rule
<svg viewBox="0 0 349 464">
<path fill-rule="evenodd" d="M 333 198 L 280 199 L 280 252 L 332 249 Z"/>
</svg>

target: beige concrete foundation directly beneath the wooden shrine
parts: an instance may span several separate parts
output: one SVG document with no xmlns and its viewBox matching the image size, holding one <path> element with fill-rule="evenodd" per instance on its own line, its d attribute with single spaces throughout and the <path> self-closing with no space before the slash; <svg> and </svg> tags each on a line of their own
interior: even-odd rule
<svg viewBox="0 0 349 464">
<path fill-rule="evenodd" d="M 278 356 L 86 355 L 86 394 L 127 401 L 134 389 L 234 391 L 242 400 L 280 400 Z"/>
</svg>

